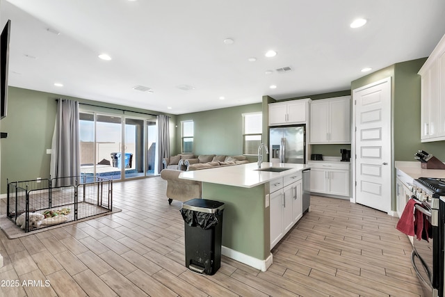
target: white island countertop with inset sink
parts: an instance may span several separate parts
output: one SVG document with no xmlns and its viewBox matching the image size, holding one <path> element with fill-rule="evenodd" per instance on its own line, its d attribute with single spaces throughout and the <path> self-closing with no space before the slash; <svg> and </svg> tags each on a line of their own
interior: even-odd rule
<svg viewBox="0 0 445 297">
<path fill-rule="evenodd" d="M 261 163 L 261 168 L 282 167 L 291 168 L 282 172 L 258 171 L 258 163 L 245 163 L 234 166 L 221 166 L 215 168 L 192 170 L 181 172 L 179 178 L 191 179 L 198 182 L 210 182 L 213 184 L 224 184 L 227 186 L 240 186 L 252 188 L 259 184 L 265 184 L 278 177 L 284 177 L 292 173 L 310 168 L 305 164 L 295 163 Z"/>
</svg>

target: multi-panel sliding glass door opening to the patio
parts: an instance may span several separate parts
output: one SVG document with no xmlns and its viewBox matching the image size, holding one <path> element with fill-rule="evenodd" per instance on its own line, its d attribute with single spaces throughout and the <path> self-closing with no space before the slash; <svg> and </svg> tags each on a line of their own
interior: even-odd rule
<svg viewBox="0 0 445 297">
<path fill-rule="evenodd" d="M 80 113 L 81 173 L 110 179 L 154 175 L 156 121 Z"/>
</svg>

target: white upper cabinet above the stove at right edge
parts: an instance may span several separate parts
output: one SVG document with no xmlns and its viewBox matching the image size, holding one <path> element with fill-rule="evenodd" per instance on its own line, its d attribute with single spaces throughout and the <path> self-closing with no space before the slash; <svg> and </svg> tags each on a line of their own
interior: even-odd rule
<svg viewBox="0 0 445 297">
<path fill-rule="evenodd" d="M 419 70 L 421 141 L 445 140 L 445 35 Z"/>
</svg>

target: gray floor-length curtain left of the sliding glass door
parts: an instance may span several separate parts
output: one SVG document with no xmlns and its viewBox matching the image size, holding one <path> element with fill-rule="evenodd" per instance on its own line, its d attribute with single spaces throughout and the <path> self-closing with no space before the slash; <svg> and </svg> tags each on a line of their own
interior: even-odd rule
<svg viewBox="0 0 445 297">
<path fill-rule="evenodd" d="M 53 186 L 75 184 L 80 163 L 79 102 L 58 99 L 51 145 L 51 178 L 57 178 Z"/>
</svg>

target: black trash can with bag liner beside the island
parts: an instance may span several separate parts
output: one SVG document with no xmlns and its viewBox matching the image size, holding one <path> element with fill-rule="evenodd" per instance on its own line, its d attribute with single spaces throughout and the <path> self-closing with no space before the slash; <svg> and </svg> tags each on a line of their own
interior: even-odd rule
<svg viewBox="0 0 445 297">
<path fill-rule="evenodd" d="M 192 199 L 181 208 L 184 218 L 186 267 L 213 275 L 221 266 L 224 203 Z"/>
</svg>

